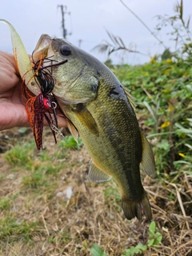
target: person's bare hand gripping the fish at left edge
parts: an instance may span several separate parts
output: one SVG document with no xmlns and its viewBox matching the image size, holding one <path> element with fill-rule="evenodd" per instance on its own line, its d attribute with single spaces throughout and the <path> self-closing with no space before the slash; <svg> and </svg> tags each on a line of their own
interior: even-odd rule
<svg viewBox="0 0 192 256">
<path fill-rule="evenodd" d="M 0 130 L 30 126 L 21 86 L 14 56 L 0 51 Z M 66 126 L 66 119 L 58 117 L 58 126 Z"/>
</svg>

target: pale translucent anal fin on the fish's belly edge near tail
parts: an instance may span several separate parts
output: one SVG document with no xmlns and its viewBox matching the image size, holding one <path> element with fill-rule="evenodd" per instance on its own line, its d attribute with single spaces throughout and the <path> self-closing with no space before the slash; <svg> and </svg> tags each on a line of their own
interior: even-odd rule
<svg viewBox="0 0 192 256">
<path fill-rule="evenodd" d="M 108 182 L 112 177 L 95 166 L 94 162 L 91 160 L 88 178 L 91 182 Z"/>
</svg>

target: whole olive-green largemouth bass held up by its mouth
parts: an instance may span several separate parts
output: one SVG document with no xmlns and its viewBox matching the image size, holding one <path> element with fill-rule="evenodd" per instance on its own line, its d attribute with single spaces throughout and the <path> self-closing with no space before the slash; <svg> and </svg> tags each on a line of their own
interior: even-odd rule
<svg viewBox="0 0 192 256">
<path fill-rule="evenodd" d="M 54 97 L 68 118 L 74 138 L 79 134 L 90 157 L 89 178 L 105 182 L 114 178 L 122 194 L 127 219 L 152 218 L 150 202 L 140 177 L 140 163 L 146 174 L 155 170 L 154 154 L 138 126 L 134 102 L 128 90 L 104 65 L 66 40 L 43 34 L 33 58 L 46 55 L 44 66 L 62 62 L 51 70 Z"/>
</svg>

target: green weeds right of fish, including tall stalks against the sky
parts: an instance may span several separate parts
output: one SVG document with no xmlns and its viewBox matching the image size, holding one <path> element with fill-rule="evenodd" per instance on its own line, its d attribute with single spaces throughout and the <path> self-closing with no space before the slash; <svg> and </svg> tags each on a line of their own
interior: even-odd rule
<svg viewBox="0 0 192 256">
<path fill-rule="evenodd" d="M 170 174 L 183 162 L 192 164 L 192 70 L 190 18 L 183 17 L 183 2 L 174 6 L 174 15 L 158 15 L 156 30 L 170 27 L 175 51 L 167 49 L 142 66 L 116 66 L 114 74 L 131 90 L 137 112 L 150 127 L 158 174 Z M 160 57 L 160 58 L 159 58 Z M 186 161 L 187 160 L 187 161 Z M 186 163 L 187 162 L 187 163 Z"/>
</svg>

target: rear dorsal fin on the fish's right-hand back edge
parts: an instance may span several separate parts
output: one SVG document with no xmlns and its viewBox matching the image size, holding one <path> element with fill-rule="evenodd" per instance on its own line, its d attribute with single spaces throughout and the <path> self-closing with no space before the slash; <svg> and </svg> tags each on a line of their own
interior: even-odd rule
<svg viewBox="0 0 192 256">
<path fill-rule="evenodd" d="M 142 170 L 146 172 L 150 177 L 153 177 L 155 171 L 154 153 L 151 149 L 150 143 L 147 141 L 146 136 L 142 135 Z"/>
</svg>

